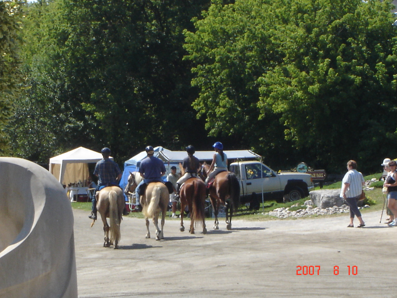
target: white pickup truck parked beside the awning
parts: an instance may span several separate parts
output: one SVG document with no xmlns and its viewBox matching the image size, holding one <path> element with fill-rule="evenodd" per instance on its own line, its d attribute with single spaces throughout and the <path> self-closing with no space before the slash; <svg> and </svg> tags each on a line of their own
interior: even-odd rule
<svg viewBox="0 0 397 298">
<path fill-rule="evenodd" d="M 257 205 L 254 206 L 255 209 L 259 206 L 259 200 L 262 201 L 262 192 L 264 199 L 295 201 L 307 197 L 308 189 L 313 187 L 310 174 L 277 173 L 258 161 L 231 163 L 229 170 L 235 173 L 240 181 L 241 203 L 254 203 Z"/>
</svg>

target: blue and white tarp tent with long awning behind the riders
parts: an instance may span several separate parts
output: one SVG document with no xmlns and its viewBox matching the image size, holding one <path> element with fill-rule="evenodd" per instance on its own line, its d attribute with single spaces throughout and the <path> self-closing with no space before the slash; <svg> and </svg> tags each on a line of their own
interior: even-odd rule
<svg viewBox="0 0 397 298">
<path fill-rule="evenodd" d="M 225 150 L 227 155 L 227 159 L 255 159 L 260 158 L 260 155 L 252 152 L 251 150 Z M 122 189 L 125 188 L 128 182 L 129 172 L 137 172 L 139 171 L 139 166 L 141 165 L 141 161 L 146 157 L 146 152 L 142 151 L 137 155 L 131 157 L 129 160 L 124 163 L 124 171 L 120 180 L 120 187 Z M 164 147 L 157 146 L 154 147 L 154 156 L 158 157 L 162 161 L 164 161 L 164 165 L 166 166 L 166 174 L 163 176 L 164 180 L 168 173 L 171 172 L 171 167 L 176 166 L 178 168 L 178 164 L 182 163 L 183 159 L 187 157 L 186 151 L 171 151 Z M 195 157 L 197 157 L 200 161 L 211 161 L 214 156 L 214 151 L 196 151 Z"/>
</svg>

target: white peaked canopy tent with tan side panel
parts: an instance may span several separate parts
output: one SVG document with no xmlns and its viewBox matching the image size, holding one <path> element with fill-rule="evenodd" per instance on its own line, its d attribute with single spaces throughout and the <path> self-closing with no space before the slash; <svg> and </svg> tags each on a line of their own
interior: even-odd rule
<svg viewBox="0 0 397 298">
<path fill-rule="evenodd" d="M 50 158 L 50 173 L 66 186 L 70 183 L 88 179 L 88 164 L 102 159 L 102 154 L 84 147 L 79 147 Z M 113 157 L 110 157 L 113 159 Z"/>
</svg>

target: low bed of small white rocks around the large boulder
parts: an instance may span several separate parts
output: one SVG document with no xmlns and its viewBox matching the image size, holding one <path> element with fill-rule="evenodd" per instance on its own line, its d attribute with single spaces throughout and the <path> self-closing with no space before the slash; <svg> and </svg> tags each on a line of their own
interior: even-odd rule
<svg viewBox="0 0 397 298">
<path fill-rule="evenodd" d="M 262 213 L 263 215 L 270 215 L 278 218 L 287 218 L 287 217 L 307 217 L 313 215 L 328 215 L 328 214 L 336 214 L 336 213 L 349 213 L 349 206 L 343 204 L 341 207 L 333 206 L 322 209 L 320 207 L 313 207 L 311 200 L 307 200 L 304 202 L 304 205 L 301 207 L 307 206 L 306 209 L 298 209 L 294 211 L 290 211 L 289 207 L 280 207 L 276 208 L 273 211 L 269 211 L 266 213 Z M 296 207 L 297 204 L 292 205 L 291 207 Z M 369 208 L 369 205 L 365 205 L 363 208 Z M 360 209 L 361 207 L 359 207 Z"/>
</svg>

